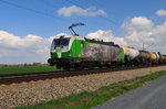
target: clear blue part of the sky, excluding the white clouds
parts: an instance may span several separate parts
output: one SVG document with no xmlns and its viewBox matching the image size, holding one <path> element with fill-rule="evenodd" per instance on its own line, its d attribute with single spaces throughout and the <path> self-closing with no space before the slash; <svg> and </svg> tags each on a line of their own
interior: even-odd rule
<svg viewBox="0 0 166 109">
<path fill-rule="evenodd" d="M 54 15 L 55 18 L 38 14 L 24 9 L 0 2 L 0 30 L 8 31 L 19 36 L 37 34 L 40 36 L 51 36 L 61 32 L 69 32 L 71 23 L 83 22 L 84 28 L 79 28 L 83 35 L 96 30 L 113 30 L 115 34 L 121 34 L 121 24 L 124 20 L 133 17 L 144 15 L 156 23 L 162 23 L 155 12 L 166 8 L 166 0 L 71 0 L 82 8 L 95 7 L 106 12 L 101 17 L 60 17 L 58 10 L 62 7 L 71 7 L 68 0 L 4 0 L 24 8 L 33 9 Z M 59 18 L 59 19 L 56 19 Z M 63 19 L 63 20 L 62 20 Z"/>
</svg>

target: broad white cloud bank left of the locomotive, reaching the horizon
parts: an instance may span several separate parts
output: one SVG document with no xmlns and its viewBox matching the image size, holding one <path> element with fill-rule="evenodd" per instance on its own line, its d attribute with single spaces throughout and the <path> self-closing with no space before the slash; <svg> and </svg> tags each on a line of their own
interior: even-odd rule
<svg viewBox="0 0 166 109">
<path fill-rule="evenodd" d="M 55 36 L 44 39 L 29 34 L 20 37 L 9 32 L 0 31 L 0 64 L 46 63 L 46 59 L 50 57 L 51 42 Z"/>
</svg>

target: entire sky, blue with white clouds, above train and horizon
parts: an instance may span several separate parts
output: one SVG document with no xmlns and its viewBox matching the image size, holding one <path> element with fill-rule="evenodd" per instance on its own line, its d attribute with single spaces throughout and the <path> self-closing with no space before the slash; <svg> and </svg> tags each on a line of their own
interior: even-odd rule
<svg viewBox="0 0 166 109">
<path fill-rule="evenodd" d="M 166 54 L 166 0 L 0 0 L 0 64 L 46 63 L 52 39 L 77 22 L 90 39 Z"/>
</svg>

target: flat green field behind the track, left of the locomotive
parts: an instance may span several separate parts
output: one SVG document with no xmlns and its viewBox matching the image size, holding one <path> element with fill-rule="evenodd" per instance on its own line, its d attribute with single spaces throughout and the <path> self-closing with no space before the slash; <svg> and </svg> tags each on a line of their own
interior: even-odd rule
<svg viewBox="0 0 166 109">
<path fill-rule="evenodd" d="M 52 72 L 58 70 L 55 66 L 20 66 L 20 67 L 0 67 L 0 75 L 3 74 L 22 74 L 37 72 Z"/>
</svg>

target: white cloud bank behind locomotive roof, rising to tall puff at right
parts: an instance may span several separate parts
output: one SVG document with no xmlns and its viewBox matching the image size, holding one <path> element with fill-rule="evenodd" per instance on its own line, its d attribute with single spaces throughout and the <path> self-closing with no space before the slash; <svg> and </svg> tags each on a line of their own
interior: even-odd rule
<svg viewBox="0 0 166 109">
<path fill-rule="evenodd" d="M 142 48 L 143 43 L 147 46 L 155 42 L 155 39 L 152 36 L 153 25 L 153 22 L 147 18 L 135 17 L 122 24 L 122 28 L 126 30 L 123 37 L 115 36 L 112 31 L 102 30 L 90 33 L 86 37 L 100 39 L 105 42 L 112 41 L 122 46 Z"/>
</svg>

